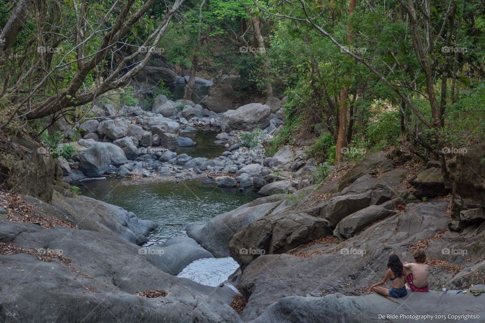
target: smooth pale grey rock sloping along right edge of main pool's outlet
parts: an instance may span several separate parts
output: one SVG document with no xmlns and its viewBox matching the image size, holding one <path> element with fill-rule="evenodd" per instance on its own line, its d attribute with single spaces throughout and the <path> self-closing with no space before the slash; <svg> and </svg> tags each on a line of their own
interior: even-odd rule
<svg viewBox="0 0 485 323">
<path fill-rule="evenodd" d="M 187 234 L 216 257 L 229 256 L 229 241 L 242 227 L 271 213 L 280 202 L 269 202 L 254 206 L 241 205 L 235 210 L 222 213 L 206 225 L 189 225 Z"/>
</svg>

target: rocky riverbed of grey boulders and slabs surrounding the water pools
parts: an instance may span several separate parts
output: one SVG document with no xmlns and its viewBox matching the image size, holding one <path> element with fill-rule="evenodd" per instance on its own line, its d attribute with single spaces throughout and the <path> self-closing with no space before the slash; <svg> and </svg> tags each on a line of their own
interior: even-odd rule
<svg viewBox="0 0 485 323">
<path fill-rule="evenodd" d="M 177 154 L 167 145 L 180 142 L 181 129 L 209 124 L 181 115 L 187 105 L 200 110 L 190 104 L 175 116 L 174 103 L 159 97 L 155 111 L 103 116 L 76 143 L 80 149 L 71 163 L 54 160 L 19 134 L 12 149 L 36 171 L 29 173 L 31 185 L 19 181 L 22 194 L 0 194 L 2 321 L 414 322 L 435 315 L 447 322 L 481 322 L 485 317 L 485 294 L 470 293 L 485 288 L 485 145 L 453 159 L 451 191 L 437 161 L 412 167 L 409 153 L 400 148 L 327 168 L 322 182 L 315 160 L 301 147 L 265 155 L 274 119 L 266 104 L 223 112 L 214 124 L 208 119 L 220 127 L 218 144 L 227 148 L 220 156 Z M 262 112 L 245 128 L 251 124 L 247 112 L 255 109 Z M 256 140 L 241 146 L 240 131 L 255 128 L 261 129 Z M 160 150 L 143 150 L 154 147 Z M 188 237 L 140 247 L 157 223 L 60 185 L 96 176 L 129 176 L 135 185 L 206 179 L 261 197 L 187 225 Z M 389 254 L 411 261 L 417 248 L 426 250 L 432 266 L 431 292 L 396 300 L 369 294 Z M 239 270 L 217 287 L 209 286 L 216 285 L 211 279 L 198 284 L 185 278 L 196 279 L 204 259 L 217 266 L 228 257 Z M 244 306 L 239 315 L 230 305 L 240 295 L 247 304 L 238 305 Z"/>
</svg>

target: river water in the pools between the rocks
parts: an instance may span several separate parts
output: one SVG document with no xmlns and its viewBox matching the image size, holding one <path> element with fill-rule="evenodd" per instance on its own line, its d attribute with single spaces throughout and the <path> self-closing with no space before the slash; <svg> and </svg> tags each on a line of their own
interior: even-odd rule
<svg viewBox="0 0 485 323">
<path fill-rule="evenodd" d="M 198 144 L 179 148 L 178 153 L 192 157 L 219 156 L 224 147 L 213 144 L 216 132 L 194 132 L 189 135 Z M 187 224 L 209 221 L 218 214 L 230 211 L 259 197 L 251 190 L 220 188 L 200 180 L 129 184 L 129 178 L 106 179 L 77 184 L 81 193 L 132 211 L 140 219 L 152 220 L 159 227 L 150 233 L 144 246 L 155 245 L 177 236 L 186 236 Z M 128 185 L 127 185 L 128 184 Z M 232 258 L 205 258 L 191 262 L 179 277 L 217 286 L 238 267 Z"/>
</svg>

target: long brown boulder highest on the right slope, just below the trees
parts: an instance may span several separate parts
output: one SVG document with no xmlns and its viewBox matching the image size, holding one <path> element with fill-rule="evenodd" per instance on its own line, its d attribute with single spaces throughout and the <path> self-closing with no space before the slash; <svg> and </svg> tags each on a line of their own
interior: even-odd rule
<svg viewBox="0 0 485 323">
<path fill-rule="evenodd" d="M 385 157 L 384 152 L 373 153 L 364 159 L 357 161 L 350 171 L 340 180 L 338 190 L 342 191 L 346 186 L 349 186 L 356 179 L 365 174 L 376 175 L 378 173 L 389 172 L 392 168 L 393 165 L 391 161 Z"/>
</svg>

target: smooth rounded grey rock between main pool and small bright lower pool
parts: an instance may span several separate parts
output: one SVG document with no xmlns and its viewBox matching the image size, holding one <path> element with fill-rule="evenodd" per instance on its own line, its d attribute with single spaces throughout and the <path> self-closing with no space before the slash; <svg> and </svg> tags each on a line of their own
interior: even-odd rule
<svg viewBox="0 0 485 323">
<path fill-rule="evenodd" d="M 193 260 L 213 257 L 212 253 L 191 238 L 178 237 L 175 241 L 170 240 L 142 249 L 143 254 L 167 274 L 177 275 Z"/>
</svg>

